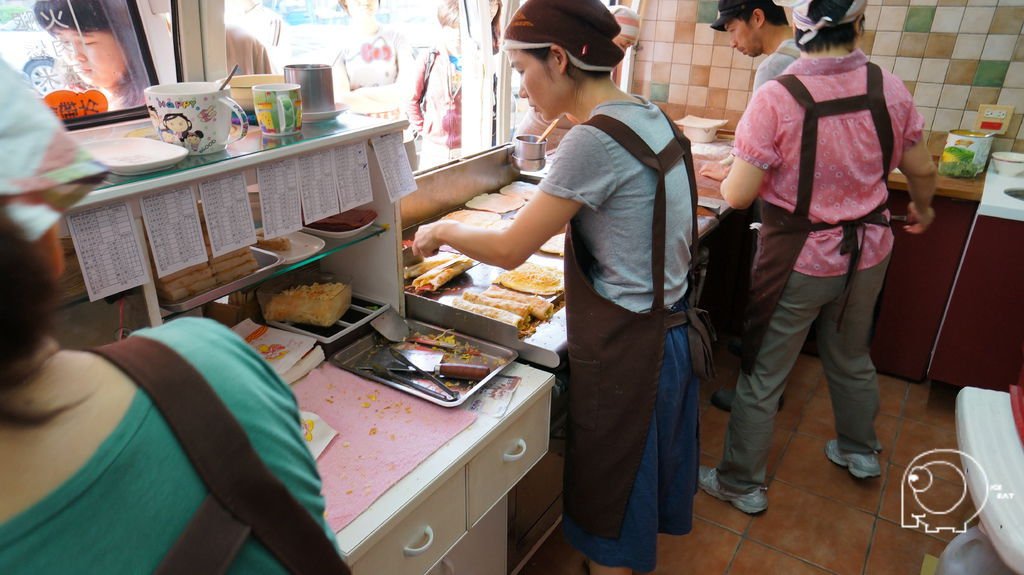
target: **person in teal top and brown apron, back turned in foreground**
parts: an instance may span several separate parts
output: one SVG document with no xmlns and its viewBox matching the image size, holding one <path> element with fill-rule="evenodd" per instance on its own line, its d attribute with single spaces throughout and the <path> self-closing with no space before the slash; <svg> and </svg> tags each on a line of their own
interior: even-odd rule
<svg viewBox="0 0 1024 575">
<path fill-rule="evenodd" d="M 0 85 L 0 573 L 347 573 L 295 398 L 241 338 L 185 318 L 59 348 L 56 223 L 105 168 L 5 64 Z M 217 447 L 202 474 L 182 430 Z M 220 477 L 242 480 L 212 495 L 210 470 L 228 467 L 245 472 Z M 281 534 L 299 531 L 309 544 L 282 552 Z"/>
</svg>

